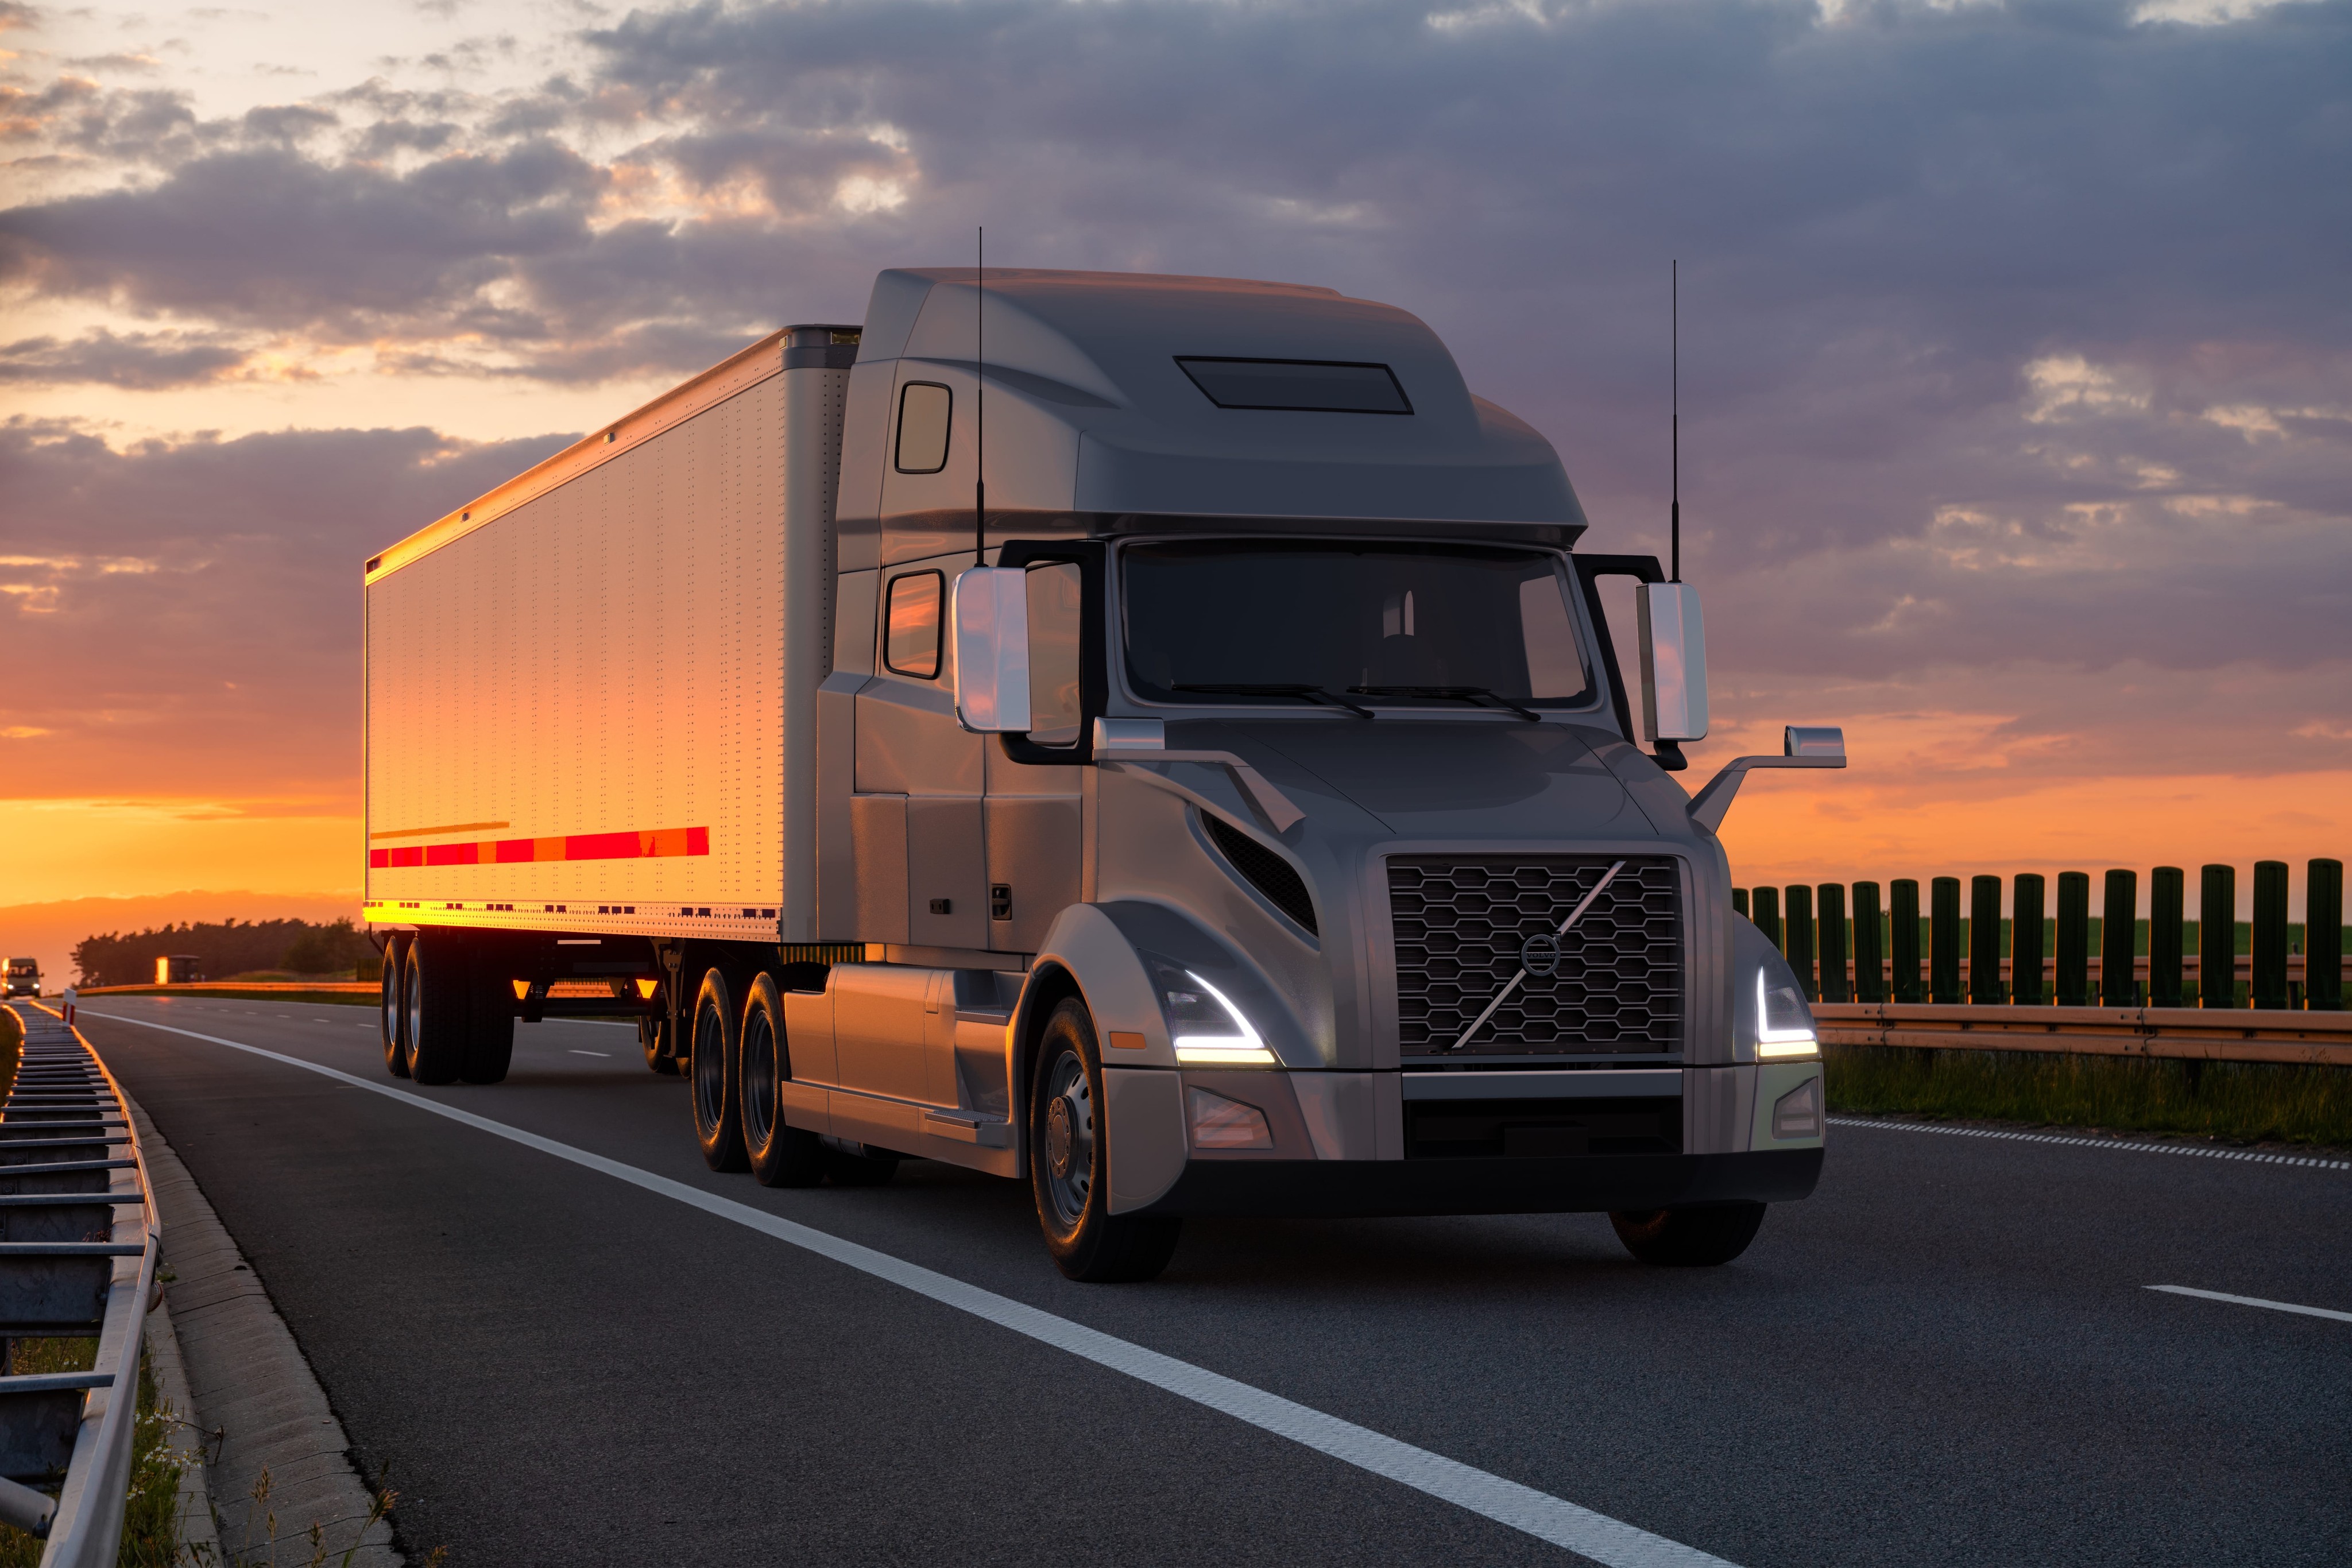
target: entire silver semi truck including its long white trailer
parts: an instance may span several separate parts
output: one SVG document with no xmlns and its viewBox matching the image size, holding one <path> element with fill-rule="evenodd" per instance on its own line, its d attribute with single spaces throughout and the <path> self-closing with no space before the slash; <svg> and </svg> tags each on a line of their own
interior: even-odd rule
<svg viewBox="0 0 2352 1568">
<path fill-rule="evenodd" d="M 1844 741 L 1686 792 L 1696 590 L 1585 527 L 1404 310 L 887 270 L 367 559 L 386 1070 L 635 1018 L 713 1171 L 1025 1180 L 1073 1279 L 1235 1213 L 1726 1262 L 1825 1100 L 1715 830 Z"/>
</svg>

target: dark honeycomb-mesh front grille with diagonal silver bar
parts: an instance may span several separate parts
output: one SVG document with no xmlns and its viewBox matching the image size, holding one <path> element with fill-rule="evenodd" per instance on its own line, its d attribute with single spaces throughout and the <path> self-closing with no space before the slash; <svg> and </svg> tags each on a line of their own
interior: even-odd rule
<svg viewBox="0 0 2352 1568">
<path fill-rule="evenodd" d="M 1529 973 L 1463 1037 L 1618 856 L 1390 856 L 1397 1034 L 1404 1056 L 1637 1056 L 1682 1051 L 1682 867 L 1625 870 L 1557 938 L 1552 973 Z M 1536 945 L 1538 969 L 1548 959 Z"/>
</svg>

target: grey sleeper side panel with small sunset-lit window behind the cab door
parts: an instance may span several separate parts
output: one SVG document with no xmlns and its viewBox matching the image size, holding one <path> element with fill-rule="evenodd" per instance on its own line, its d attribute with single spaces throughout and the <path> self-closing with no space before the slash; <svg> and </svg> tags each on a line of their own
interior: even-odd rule
<svg viewBox="0 0 2352 1568">
<path fill-rule="evenodd" d="M 906 931 L 875 931 L 917 947 L 988 945 L 988 851 L 981 736 L 955 722 L 948 581 L 957 557 L 884 567 L 880 658 L 856 698 L 858 825 L 903 835 Z M 903 820 L 889 823 L 891 816 Z M 887 856 L 858 856 L 858 877 L 896 877 Z M 858 907 L 891 907 L 896 889 L 861 886 Z M 844 1063 L 847 1072 L 847 1063 Z"/>
</svg>

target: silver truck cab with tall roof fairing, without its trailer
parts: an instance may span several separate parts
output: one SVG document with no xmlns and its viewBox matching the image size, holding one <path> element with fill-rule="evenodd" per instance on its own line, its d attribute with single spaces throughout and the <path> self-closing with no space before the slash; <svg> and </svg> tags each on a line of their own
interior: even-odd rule
<svg viewBox="0 0 2352 1568">
<path fill-rule="evenodd" d="M 830 1037 L 786 1124 L 1028 1175 L 1084 1279 L 1200 1213 L 1611 1211 L 1722 1262 L 1813 1190 L 1738 773 L 1693 802 L 1635 743 L 1602 628 L 1656 562 L 1573 550 L 1557 454 L 1421 320 L 894 270 L 842 430 L 818 905 L 882 961 L 783 997 Z"/>
</svg>

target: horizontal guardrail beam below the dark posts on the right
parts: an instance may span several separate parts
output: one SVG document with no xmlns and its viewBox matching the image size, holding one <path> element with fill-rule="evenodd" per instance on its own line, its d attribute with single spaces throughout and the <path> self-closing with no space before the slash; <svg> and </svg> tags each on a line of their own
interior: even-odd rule
<svg viewBox="0 0 2352 1568">
<path fill-rule="evenodd" d="M 2352 1067 L 2352 1013 L 2197 1006 L 1966 1006 L 1950 1001 L 1816 1001 L 1825 1046 L 2063 1051 L 2206 1063 Z"/>
</svg>

